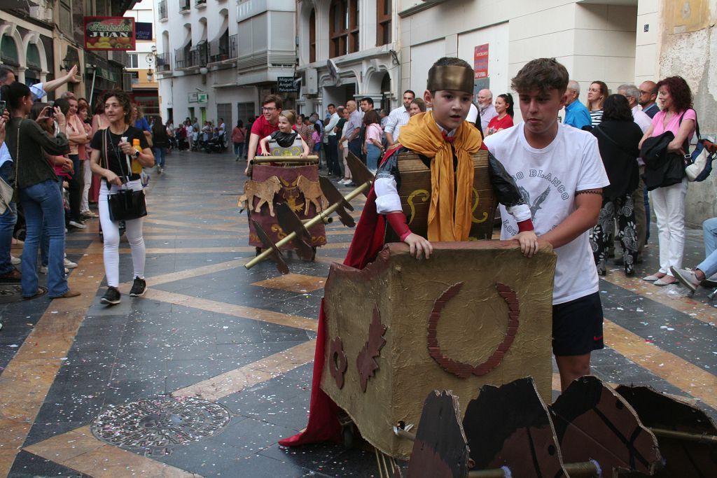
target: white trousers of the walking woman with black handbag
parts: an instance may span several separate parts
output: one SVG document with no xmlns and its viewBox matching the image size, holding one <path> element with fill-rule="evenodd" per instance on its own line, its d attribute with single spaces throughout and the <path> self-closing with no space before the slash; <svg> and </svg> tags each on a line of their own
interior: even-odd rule
<svg viewBox="0 0 717 478">
<path fill-rule="evenodd" d="M 107 203 L 107 182 L 104 178 L 101 184 L 98 209 L 100 211 L 100 224 L 102 224 L 102 234 L 105 241 L 105 276 L 107 276 L 107 285 L 118 287 L 118 285 L 120 285 L 120 223 L 119 221 L 110 219 L 110 207 Z M 136 191 L 142 188 L 142 183 L 141 180 L 138 179 L 137 181 L 128 182 L 126 186 Z M 118 186 L 113 185 L 111 191 L 118 191 L 118 189 Z M 144 238 L 142 237 L 143 221 L 143 217 L 125 221 L 125 234 L 127 234 L 127 239 L 132 251 L 133 277 L 139 277 L 140 279 L 144 279 L 144 262 L 146 257 Z"/>
</svg>

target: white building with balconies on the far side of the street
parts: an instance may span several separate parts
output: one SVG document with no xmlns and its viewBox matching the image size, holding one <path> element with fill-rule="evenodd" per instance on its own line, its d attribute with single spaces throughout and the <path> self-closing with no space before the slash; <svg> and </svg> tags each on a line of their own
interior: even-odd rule
<svg viewBox="0 0 717 478">
<path fill-rule="evenodd" d="M 289 0 L 158 2 L 163 118 L 224 118 L 233 125 L 259 115 L 260 99 L 277 92 L 277 78 L 294 74 L 294 13 Z"/>
</svg>

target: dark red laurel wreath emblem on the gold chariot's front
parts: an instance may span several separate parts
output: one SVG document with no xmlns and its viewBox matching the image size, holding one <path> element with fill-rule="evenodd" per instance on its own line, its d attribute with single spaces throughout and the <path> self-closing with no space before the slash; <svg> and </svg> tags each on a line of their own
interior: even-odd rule
<svg viewBox="0 0 717 478">
<path fill-rule="evenodd" d="M 428 353 L 431 355 L 433 360 L 435 360 L 436 363 L 448 373 L 452 373 L 460 378 L 468 378 L 472 375 L 480 377 L 497 367 L 500 362 L 503 361 L 505 353 L 508 352 L 511 345 L 513 345 L 513 340 L 515 340 L 516 332 L 518 331 L 518 316 L 520 315 L 518 297 L 516 295 L 516 291 L 511 289 L 511 287 L 503 285 L 500 282 L 496 282 L 495 290 L 498 291 L 500 297 L 503 297 L 503 300 L 505 300 L 508 304 L 508 330 L 505 331 L 503 341 L 500 342 L 498 348 L 495 349 L 490 357 L 488 357 L 488 359 L 480 365 L 474 366 L 470 365 L 470 363 L 458 362 L 452 358 L 446 357 L 441 350 L 440 345 L 438 345 L 436 332 L 443 307 L 445 307 L 446 303 L 455 297 L 458 292 L 460 292 L 462 287 L 463 282 L 458 282 L 457 284 L 448 287 L 448 289 L 434 302 L 431 315 L 428 319 Z"/>
</svg>

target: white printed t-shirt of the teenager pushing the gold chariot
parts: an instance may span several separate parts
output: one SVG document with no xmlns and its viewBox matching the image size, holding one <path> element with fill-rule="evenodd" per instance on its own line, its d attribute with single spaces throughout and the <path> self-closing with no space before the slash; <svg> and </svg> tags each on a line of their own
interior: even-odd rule
<svg viewBox="0 0 717 478">
<path fill-rule="evenodd" d="M 587 131 L 558 125 L 558 135 L 546 148 L 528 145 L 525 123 L 485 138 L 485 145 L 515 179 L 531 208 L 533 226 L 541 236 L 555 229 L 575 211 L 575 192 L 609 185 L 597 148 L 597 138 Z M 503 227 L 500 239 L 518 233 L 513 217 L 500 205 Z M 562 304 L 599 290 L 597 268 L 585 231 L 572 242 L 555 249 L 553 304 Z"/>
</svg>

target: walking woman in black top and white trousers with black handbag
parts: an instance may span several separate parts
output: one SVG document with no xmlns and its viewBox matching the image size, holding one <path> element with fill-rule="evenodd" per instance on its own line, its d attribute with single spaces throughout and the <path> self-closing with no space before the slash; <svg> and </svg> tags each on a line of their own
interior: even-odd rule
<svg viewBox="0 0 717 478">
<path fill-rule="evenodd" d="M 99 130 L 92 138 L 92 173 L 101 176 L 100 224 L 104 234 L 105 275 L 108 289 L 103 304 L 120 303 L 120 220 L 125 221 L 125 233 L 132 251 L 134 282 L 130 296 L 144 295 L 145 247 L 142 236 L 144 191 L 138 173 L 132 172 L 132 162 L 143 168 L 154 166 L 154 156 L 142 130 L 130 123 L 132 106 L 128 95 L 119 90 L 105 93 L 105 115 L 109 121 L 106 130 Z M 139 140 L 140 148 L 132 146 Z"/>
</svg>

